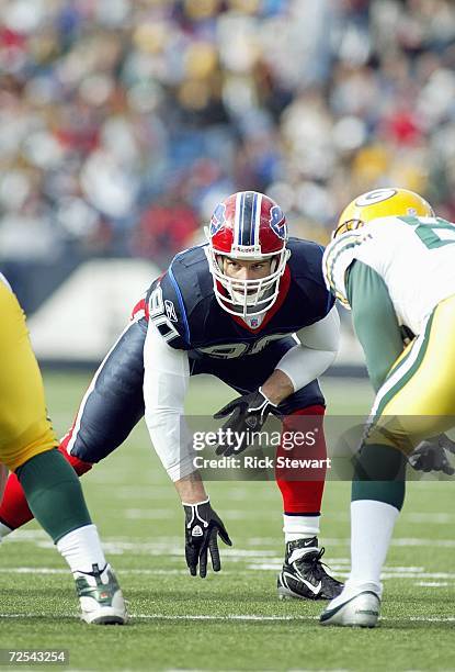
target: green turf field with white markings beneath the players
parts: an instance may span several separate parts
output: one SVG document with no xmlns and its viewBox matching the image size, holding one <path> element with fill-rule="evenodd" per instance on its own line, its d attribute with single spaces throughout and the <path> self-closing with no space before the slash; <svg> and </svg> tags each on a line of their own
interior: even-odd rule
<svg viewBox="0 0 455 672">
<path fill-rule="evenodd" d="M 49 374 L 45 382 L 62 433 L 88 377 Z M 366 381 L 327 380 L 325 391 L 333 413 L 368 408 Z M 189 411 L 208 414 L 230 396 L 227 388 L 201 381 Z M 208 484 L 234 547 L 221 549 L 221 573 L 204 581 L 186 572 L 181 506 L 144 426 L 83 477 L 83 485 L 128 600 L 130 625 L 79 621 L 66 564 L 30 524 L 0 548 L 0 648 L 67 649 L 77 670 L 455 670 L 453 482 L 409 485 L 375 630 L 321 628 L 325 603 L 277 601 L 283 537 L 273 483 Z M 328 483 L 323 513 L 325 559 L 344 576 L 346 483 Z"/>
</svg>

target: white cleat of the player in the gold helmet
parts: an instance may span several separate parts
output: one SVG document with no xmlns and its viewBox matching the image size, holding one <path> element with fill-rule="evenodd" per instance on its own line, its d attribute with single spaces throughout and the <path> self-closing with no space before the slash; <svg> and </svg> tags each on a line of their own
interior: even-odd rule
<svg viewBox="0 0 455 672">
<path fill-rule="evenodd" d="M 340 598 L 337 598 L 339 602 Z M 320 625 L 374 628 L 379 618 L 380 600 L 373 591 L 362 591 L 338 606 L 330 604 L 319 618 Z"/>
</svg>

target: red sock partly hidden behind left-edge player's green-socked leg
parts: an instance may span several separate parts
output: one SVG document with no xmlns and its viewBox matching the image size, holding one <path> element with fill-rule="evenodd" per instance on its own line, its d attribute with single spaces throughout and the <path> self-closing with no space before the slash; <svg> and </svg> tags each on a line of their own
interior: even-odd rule
<svg viewBox="0 0 455 672">
<path fill-rule="evenodd" d="M 59 446 L 58 449 L 78 475 L 82 475 L 92 468 L 90 462 L 83 462 L 79 458 L 68 455 L 64 445 Z M 0 504 L 0 523 L 11 529 L 16 529 L 32 519 L 33 514 L 29 508 L 22 485 L 15 473 L 10 473 Z"/>
</svg>

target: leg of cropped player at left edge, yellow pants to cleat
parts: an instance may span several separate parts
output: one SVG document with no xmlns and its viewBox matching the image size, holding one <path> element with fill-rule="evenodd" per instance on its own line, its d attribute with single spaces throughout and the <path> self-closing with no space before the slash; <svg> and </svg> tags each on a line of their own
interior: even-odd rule
<svg viewBox="0 0 455 672">
<path fill-rule="evenodd" d="M 124 624 L 122 591 L 104 558 L 75 471 L 56 450 L 58 441 L 46 415 L 24 314 L 1 273 L 0 315 L 0 460 L 14 472 L 33 515 L 68 562 L 83 620 Z"/>
</svg>

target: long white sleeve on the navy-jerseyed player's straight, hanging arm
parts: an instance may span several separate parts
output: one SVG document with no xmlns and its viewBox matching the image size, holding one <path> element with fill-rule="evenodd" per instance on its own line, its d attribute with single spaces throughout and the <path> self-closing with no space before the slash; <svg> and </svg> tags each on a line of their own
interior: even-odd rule
<svg viewBox="0 0 455 672">
<path fill-rule="evenodd" d="M 145 417 L 151 443 L 172 481 L 195 471 L 191 433 L 184 422 L 190 365 L 149 323 L 144 346 Z"/>
</svg>

